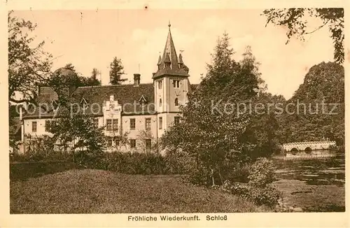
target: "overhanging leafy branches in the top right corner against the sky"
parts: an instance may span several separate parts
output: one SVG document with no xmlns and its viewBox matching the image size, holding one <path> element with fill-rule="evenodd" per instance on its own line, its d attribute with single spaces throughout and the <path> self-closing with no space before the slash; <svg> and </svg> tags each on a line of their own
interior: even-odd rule
<svg viewBox="0 0 350 228">
<path fill-rule="evenodd" d="M 282 25 L 287 29 L 288 43 L 290 37 L 297 36 L 304 41 L 304 36 L 312 34 L 328 25 L 334 45 L 334 59 L 344 62 L 344 8 L 283 8 L 267 9 L 262 15 L 267 17 L 267 24 Z M 322 24 L 314 30 L 307 30 L 307 17 L 317 17 Z"/>
</svg>

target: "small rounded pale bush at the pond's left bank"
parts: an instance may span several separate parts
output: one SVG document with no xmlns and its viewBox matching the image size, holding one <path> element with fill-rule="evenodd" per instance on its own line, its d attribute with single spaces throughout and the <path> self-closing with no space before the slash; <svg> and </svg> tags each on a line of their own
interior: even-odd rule
<svg viewBox="0 0 350 228">
<path fill-rule="evenodd" d="M 259 157 L 249 169 L 249 184 L 255 187 L 266 187 L 275 179 L 274 164 L 265 157 Z"/>
</svg>

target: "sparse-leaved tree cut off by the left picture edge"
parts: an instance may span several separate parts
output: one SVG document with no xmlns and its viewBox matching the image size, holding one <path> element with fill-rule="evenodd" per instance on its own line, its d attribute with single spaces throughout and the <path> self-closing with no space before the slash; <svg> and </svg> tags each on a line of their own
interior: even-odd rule
<svg viewBox="0 0 350 228">
<path fill-rule="evenodd" d="M 43 50 L 44 41 L 34 42 L 29 33 L 36 24 L 8 13 L 8 100 L 36 104 L 38 84 L 51 73 L 52 55 Z"/>
</svg>

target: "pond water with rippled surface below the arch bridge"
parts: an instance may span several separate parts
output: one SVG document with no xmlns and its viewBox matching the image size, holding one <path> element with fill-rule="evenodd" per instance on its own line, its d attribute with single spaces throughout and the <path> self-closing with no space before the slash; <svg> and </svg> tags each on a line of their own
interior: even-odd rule
<svg viewBox="0 0 350 228">
<path fill-rule="evenodd" d="M 274 157 L 276 181 L 286 204 L 303 211 L 345 210 L 345 156 L 327 150 L 329 157 Z"/>
</svg>

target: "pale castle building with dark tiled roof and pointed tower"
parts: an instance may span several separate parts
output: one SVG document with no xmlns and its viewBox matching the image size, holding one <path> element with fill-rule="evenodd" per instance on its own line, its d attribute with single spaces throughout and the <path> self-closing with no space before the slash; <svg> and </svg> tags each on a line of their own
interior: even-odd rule
<svg viewBox="0 0 350 228">
<path fill-rule="evenodd" d="M 162 56 L 158 59 L 158 69 L 153 73 L 153 83 L 141 83 L 141 75 L 134 73 L 134 83 L 125 85 L 102 85 L 69 88 L 71 99 L 77 106 L 83 106 L 87 115 L 94 117 L 98 127 L 105 126 L 109 148 L 118 147 L 115 136 L 127 133 L 128 145 L 125 150 L 146 148 L 180 121 L 179 106 L 188 101 L 187 94 L 195 85 L 188 80 L 188 67 L 182 55 L 176 54 L 172 33 L 169 32 Z M 69 69 L 59 69 L 59 73 L 69 74 Z M 55 104 L 57 93 L 51 87 L 40 87 L 38 103 Z M 27 108 L 22 115 L 22 141 L 29 136 L 50 135 L 45 127 L 57 117 L 55 113 L 40 113 L 39 108 Z M 145 134 L 146 132 L 146 134 Z M 26 142 L 24 142 L 26 145 Z M 24 149 L 25 150 L 25 149 Z"/>
</svg>

